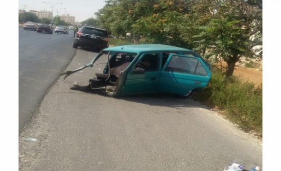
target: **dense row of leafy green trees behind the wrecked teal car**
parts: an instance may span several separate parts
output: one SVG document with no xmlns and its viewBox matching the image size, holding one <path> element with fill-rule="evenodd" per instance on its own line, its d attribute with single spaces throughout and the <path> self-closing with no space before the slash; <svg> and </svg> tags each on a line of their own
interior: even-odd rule
<svg viewBox="0 0 281 171">
<path fill-rule="evenodd" d="M 262 48 L 252 50 L 262 45 L 262 0 L 108 0 L 95 14 L 98 26 L 111 35 L 130 33 L 136 43 L 175 45 L 212 61 L 221 58 L 228 65 L 226 77 L 242 56 L 262 58 Z"/>
</svg>

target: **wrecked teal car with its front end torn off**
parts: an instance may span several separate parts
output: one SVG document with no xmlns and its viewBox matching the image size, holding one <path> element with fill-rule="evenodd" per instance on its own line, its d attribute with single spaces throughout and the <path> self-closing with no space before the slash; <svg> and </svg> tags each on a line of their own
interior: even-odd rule
<svg viewBox="0 0 281 171">
<path fill-rule="evenodd" d="M 212 77 L 210 64 L 194 51 L 163 44 L 105 48 L 88 64 L 61 76 L 65 75 L 65 79 L 93 66 L 103 69 L 96 72 L 88 85 L 77 84 L 72 89 L 98 89 L 109 96 L 170 93 L 189 97 L 193 91 L 204 88 Z"/>
</svg>

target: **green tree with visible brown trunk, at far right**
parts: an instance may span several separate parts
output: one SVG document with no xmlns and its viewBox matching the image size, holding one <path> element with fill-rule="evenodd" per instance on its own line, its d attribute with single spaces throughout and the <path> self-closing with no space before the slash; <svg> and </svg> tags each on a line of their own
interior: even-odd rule
<svg viewBox="0 0 281 171">
<path fill-rule="evenodd" d="M 235 64 L 242 56 L 255 56 L 252 47 L 261 43 L 251 40 L 253 35 L 262 34 L 262 9 L 253 1 L 214 1 L 209 7 L 212 14 L 201 29 L 197 43 L 209 48 L 206 57 L 221 57 L 227 63 L 226 78 L 232 76 Z M 261 2 L 261 1 L 256 1 Z M 200 47 L 200 46 L 199 46 Z"/>
</svg>

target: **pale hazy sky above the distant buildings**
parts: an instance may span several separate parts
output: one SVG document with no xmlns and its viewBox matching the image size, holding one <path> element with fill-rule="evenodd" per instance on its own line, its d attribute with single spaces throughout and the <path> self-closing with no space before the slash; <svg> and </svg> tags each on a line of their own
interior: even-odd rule
<svg viewBox="0 0 281 171">
<path fill-rule="evenodd" d="M 18 9 L 25 9 L 27 12 L 29 12 L 29 10 L 52 11 L 51 4 L 53 4 L 54 7 L 53 16 L 56 16 L 58 11 L 59 15 L 69 14 L 70 16 L 75 16 L 75 21 L 81 22 L 90 17 L 95 18 L 96 17 L 95 12 L 98 12 L 99 9 L 104 7 L 105 1 L 104 0 L 19 0 Z"/>
</svg>

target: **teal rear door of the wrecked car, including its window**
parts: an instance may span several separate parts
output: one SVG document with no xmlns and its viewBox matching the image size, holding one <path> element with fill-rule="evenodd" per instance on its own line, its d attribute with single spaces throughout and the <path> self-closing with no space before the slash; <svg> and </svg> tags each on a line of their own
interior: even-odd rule
<svg viewBox="0 0 281 171">
<path fill-rule="evenodd" d="M 203 88 L 212 76 L 201 58 L 171 54 L 161 70 L 159 92 L 186 95 Z"/>
</svg>

